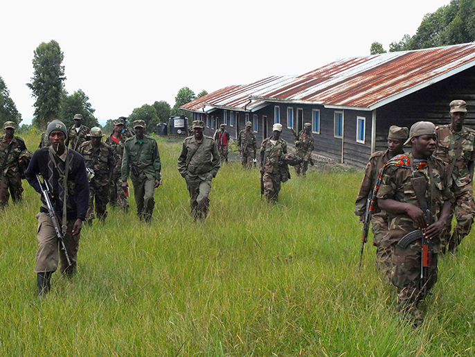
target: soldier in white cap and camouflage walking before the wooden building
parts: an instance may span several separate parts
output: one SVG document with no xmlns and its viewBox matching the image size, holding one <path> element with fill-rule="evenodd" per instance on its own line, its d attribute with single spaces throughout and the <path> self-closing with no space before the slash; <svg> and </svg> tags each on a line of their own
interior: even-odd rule
<svg viewBox="0 0 475 357">
<path fill-rule="evenodd" d="M 262 141 L 260 146 L 260 174 L 264 184 L 265 198 L 268 202 L 276 203 L 279 199 L 280 182 L 283 179 L 280 162 L 287 154 L 287 143 L 280 139 L 282 124 L 272 127 L 274 135 Z"/>
</svg>

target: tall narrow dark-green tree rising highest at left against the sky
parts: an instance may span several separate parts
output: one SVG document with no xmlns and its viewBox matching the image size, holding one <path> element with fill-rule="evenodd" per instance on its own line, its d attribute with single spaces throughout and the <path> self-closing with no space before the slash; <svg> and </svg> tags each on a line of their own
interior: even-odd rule
<svg viewBox="0 0 475 357">
<path fill-rule="evenodd" d="M 46 123 L 60 117 L 61 92 L 64 87 L 64 66 L 61 65 L 64 53 L 60 44 L 51 40 L 37 46 L 33 55 L 33 77 L 26 85 L 36 98 L 35 123 L 40 128 L 46 128 Z"/>
</svg>

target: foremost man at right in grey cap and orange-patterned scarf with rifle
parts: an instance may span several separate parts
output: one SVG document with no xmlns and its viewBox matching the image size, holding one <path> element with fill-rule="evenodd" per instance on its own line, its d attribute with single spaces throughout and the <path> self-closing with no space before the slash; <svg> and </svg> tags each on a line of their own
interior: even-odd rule
<svg viewBox="0 0 475 357">
<path fill-rule="evenodd" d="M 436 125 L 428 121 L 412 125 L 406 141 L 411 153 L 389 160 L 375 187 L 375 204 L 388 213 L 397 307 L 416 326 L 422 321 L 418 304 L 437 281 L 440 233 L 454 200 L 447 168 L 432 156 L 436 142 Z M 417 230 L 420 234 L 415 234 Z M 415 239 L 408 241 L 408 234 Z"/>
</svg>

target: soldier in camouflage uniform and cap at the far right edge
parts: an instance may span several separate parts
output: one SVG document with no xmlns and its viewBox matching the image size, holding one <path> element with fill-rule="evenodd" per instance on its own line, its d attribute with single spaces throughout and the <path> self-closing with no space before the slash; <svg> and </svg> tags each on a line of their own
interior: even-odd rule
<svg viewBox="0 0 475 357">
<path fill-rule="evenodd" d="M 450 103 L 451 124 L 436 129 L 438 148 L 436 157 L 444 160 L 449 169 L 450 189 L 455 196 L 455 204 L 442 234 L 442 252 L 449 243 L 449 252 L 453 252 L 460 241 L 470 233 L 475 216 L 473 173 L 475 159 L 475 130 L 463 126 L 467 115 L 467 103 Z M 451 234 L 452 217 L 457 220 Z"/>
</svg>

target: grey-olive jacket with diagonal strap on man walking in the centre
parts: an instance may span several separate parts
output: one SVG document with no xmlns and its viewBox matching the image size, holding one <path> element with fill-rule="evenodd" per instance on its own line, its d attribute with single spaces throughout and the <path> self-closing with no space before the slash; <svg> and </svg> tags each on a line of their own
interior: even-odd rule
<svg viewBox="0 0 475 357">
<path fill-rule="evenodd" d="M 178 157 L 178 171 L 182 177 L 199 177 L 208 180 L 208 174 L 216 176 L 220 166 L 219 153 L 212 137 L 203 136 L 199 143 L 194 136 L 183 140 Z"/>
</svg>

